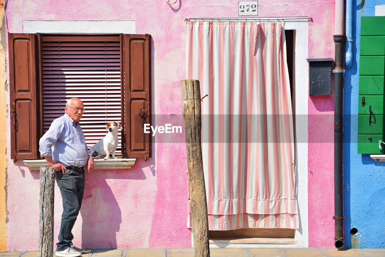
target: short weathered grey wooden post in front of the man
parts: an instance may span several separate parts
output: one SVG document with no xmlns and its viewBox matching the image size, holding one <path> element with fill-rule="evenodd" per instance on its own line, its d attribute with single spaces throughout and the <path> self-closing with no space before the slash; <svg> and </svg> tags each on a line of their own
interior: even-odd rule
<svg viewBox="0 0 385 257">
<path fill-rule="evenodd" d="M 40 167 L 39 257 L 54 254 L 54 188 L 55 169 Z"/>
</svg>

